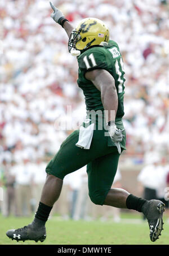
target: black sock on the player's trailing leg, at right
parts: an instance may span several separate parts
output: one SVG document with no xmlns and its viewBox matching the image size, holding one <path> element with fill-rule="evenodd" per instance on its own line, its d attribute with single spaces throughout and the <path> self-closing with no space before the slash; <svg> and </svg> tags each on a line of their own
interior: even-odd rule
<svg viewBox="0 0 169 256">
<path fill-rule="evenodd" d="M 141 197 L 139 198 L 130 194 L 126 199 L 126 206 L 128 209 L 141 212 L 141 208 L 145 202 L 147 202 L 145 199 Z"/>
</svg>

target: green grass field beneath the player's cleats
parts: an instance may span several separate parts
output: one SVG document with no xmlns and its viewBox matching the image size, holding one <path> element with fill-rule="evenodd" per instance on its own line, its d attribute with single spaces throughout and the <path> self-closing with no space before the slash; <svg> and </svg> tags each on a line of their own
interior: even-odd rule
<svg viewBox="0 0 169 256">
<path fill-rule="evenodd" d="M 139 215 L 140 216 L 140 215 Z M 169 245 L 169 224 L 164 223 L 162 236 L 156 242 L 149 239 L 148 223 L 138 215 L 123 214 L 120 223 L 97 221 L 58 220 L 55 216 L 46 224 L 47 238 L 41 242 L 16 242 L 6 236 L 6 231 L 20 228 L 33 218 L 4 218 L 0 215 L 0 245 Z"/>
</svg>

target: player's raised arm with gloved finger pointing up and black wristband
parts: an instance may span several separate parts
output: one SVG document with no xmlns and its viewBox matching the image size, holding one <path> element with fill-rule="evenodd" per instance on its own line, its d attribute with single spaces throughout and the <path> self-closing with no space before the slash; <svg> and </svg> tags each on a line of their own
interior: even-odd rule
<svg viewBox="0 0 169 256">
<path fill-rule="evenodd" d="M 68 37 L 70 37 L 70 33 L 73 31 L 73 26 L 70 24 L 70 22 L 65 18 L 63 12 L 61 12 L 59 9 L 57 9 L 52 2 L 50 2 L 50 5 L 54 12 L 51 14 L 51 18 L 55 20 L 56 23 L 61 25 L 66 33 L 68 34 Z"/>
</svg>

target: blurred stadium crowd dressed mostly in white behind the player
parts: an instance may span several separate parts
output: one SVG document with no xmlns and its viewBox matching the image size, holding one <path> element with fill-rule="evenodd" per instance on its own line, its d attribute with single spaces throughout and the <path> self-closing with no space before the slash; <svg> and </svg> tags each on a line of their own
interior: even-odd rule
<svg viewBox="0 0 169 256">
<path fill-rule="evenodd" d="M 127 132 L 121 161 L 148 164 L 154 151 L 167 156 L 168 1 L 53 2 L 74 27 L 89 16 L 103 20 L 121 49 Z M 46 0 L 0 2 L 0 165 L 11 173 L 32 170 L 29 184 L 36 169 L 45 179 L 46 162 L 85 116 L 84 97 L 76 83 L 77 60 L 68 53 L 68 37 L 50 18 L 51 12 Z"/>
</svg>

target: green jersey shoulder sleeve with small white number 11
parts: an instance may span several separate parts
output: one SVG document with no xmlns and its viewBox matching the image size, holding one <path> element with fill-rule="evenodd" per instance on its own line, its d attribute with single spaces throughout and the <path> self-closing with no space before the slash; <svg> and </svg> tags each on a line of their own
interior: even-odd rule
<svg viewBox="0 0 169 256">
<path fill-rule="evenodd" d="M 100 47 L 93 47 L 85 51 L 78 58 L 79 69 L 85 74 L 88 71 L 103 69 L 108 70 L 106 53 Z"/>
</svg>

